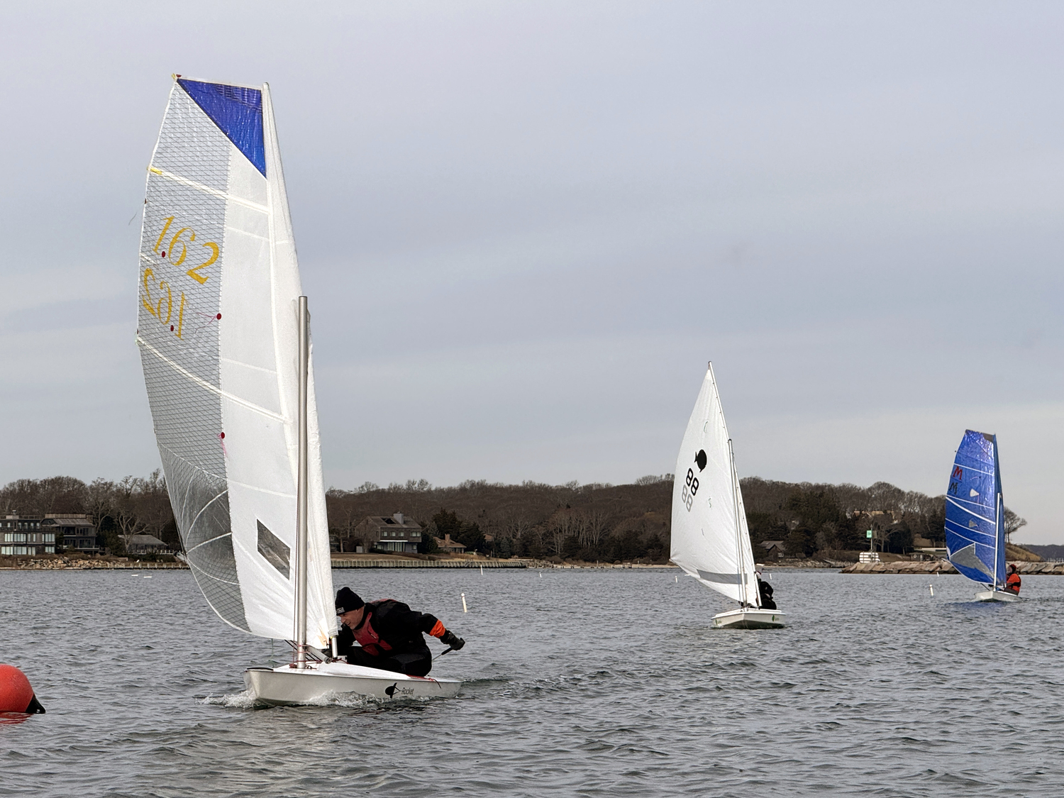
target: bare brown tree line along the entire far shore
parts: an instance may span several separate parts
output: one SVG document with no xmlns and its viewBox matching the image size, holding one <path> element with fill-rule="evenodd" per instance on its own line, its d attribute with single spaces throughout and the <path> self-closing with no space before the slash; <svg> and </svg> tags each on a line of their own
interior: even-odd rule
<svg viewBox="0 0 1064 798">
<path fill-rule="evenodd" d="M 759 559 L 766 541 L 783 542 L 792 556 L 852 558 L 869 548 L 867 530 L 874 533 L 871 545 L 882 551 L 904 553 L 916 538 L 945 545 L 943 496 L 886 482 L 859 487 L 747 477 L 741 486 Z M 372 542 L 355 539 L 355 528 L 367 516 L 401 512 L 422 526 L 423 553 L 434 552 L 434 537 L 449 534 L 469 551 L 495 556 L 603 563 L 667 562 L 671 502 L 671 475 L 628 485 L 470 480 L 434 487 L 410 480 L 380 487 L 367 482 L 326 494 L 330 536 L 347 551 L 355 544 L 369 550 Z M 16 480 L 0 488 L 0 514 L 7 513 L 84 513 L 99 531 L 99 544 L 118 554 L 124 552 L 122 534 L 146 533 L 173 549 L 181 546 L 160 470 L 89 484 L 72 477 Z M 1026 523 L 1005 509 L 1009 535 Z"/>
</svg>

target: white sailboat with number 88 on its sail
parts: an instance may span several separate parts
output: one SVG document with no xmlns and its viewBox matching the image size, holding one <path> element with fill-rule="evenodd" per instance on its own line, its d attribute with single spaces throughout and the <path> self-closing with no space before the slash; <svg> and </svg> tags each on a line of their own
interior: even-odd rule
<svg viewBox="0 0 1064 798">
<path fill-rule="evenodd" d="M 712 363 L 676 462 L 671 560 L 705 587 L 738 602 L 737 609 L 714 615 L 714 627 L 784 625 L 783 613 L 761 606 L 743 492 Z"/>
</svg>

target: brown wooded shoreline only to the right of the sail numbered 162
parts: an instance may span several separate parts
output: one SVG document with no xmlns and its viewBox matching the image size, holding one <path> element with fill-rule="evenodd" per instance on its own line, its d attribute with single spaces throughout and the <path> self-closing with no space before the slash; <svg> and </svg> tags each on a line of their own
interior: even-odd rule
<svg viewBox="0 0 1064 798">
<path fill-rule="evenodd" d="M 860 487 L 748 477 L 739 484 L 759 559 L 766 541 L 781 541 L 791 556 L 837 559 L 855 559 L 869 546 L 907 553 L 918 538 L 945 546 L 944 496 L 887 482 Z M 630 485 L 468 481 L 433 487 L 411 480 L 381 487 L 367 482 L 355 491 L 333 488 L 326 501 L 335 537 L 349 535 L 368 515 L 402 512 L 426 528 L 425 553 L 434 548 L 430 535 L 449 533 L 467 549 L 496 556 L 660 563 L 669 555 L 671 475 L 643 477 Z M 1026 523 L 1005 509 L 1008 535 Z"/>
</svg>

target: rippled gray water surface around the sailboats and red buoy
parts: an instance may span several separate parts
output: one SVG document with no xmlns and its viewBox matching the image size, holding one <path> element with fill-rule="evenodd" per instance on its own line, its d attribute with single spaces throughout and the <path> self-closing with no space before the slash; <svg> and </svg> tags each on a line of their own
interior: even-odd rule
<svg viewBox="0 0 1064 798">
<path fill-rule="evenodd" d="M 464 636 L 433 671 L 463 693 L 255 710 L 283 644 L 187 571 L 0 571 L 0 662 L 48 710 L 0 725 L 0 795 L 1064 794 L 1064 579 L 782 570 L 789 626 L 725 631 L 677 573 L 337 570 Z"/>
</svg>

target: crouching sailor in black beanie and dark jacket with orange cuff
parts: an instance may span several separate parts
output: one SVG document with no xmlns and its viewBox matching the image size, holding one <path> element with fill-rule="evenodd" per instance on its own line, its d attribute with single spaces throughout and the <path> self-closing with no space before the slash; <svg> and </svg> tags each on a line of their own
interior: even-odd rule
<svg viewBox="0 0 1064 798">
<path fill-rule="evenodd" d="M 438 637 L 454 650 L 465 645 L 435 615 L 414 612 L 394 599 L 367 604 L 350 587 L 337 592 L 336 614 L 342 624 L 336 650 L 352 665 L 426 676 L 432 668 L 432 652 L 422 633 Z"/>
</svg>

